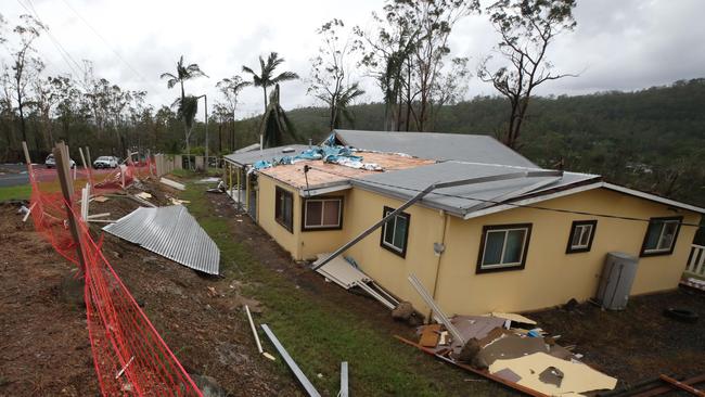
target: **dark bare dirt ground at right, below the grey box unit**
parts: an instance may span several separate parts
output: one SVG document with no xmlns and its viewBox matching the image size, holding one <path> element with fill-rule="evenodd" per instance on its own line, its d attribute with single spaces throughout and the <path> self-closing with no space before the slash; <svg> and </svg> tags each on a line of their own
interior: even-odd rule
<svg viewBox="0 0 705 397">
<path fill-rule="evenodd" d="M 689 308 L 701 318 L 696 323 L 675 321 L 663 315 L 667 308 Z M 624 311 L 585 303 L 572 310 L 528 316 L 544 330 L 562 335 L 562 345 L 576 345 L 584 361 L 628 384 L 659 374 L 705 373 L 705 294 L 698 291 L 680 287 L 636 296 Z"/>
</svg>

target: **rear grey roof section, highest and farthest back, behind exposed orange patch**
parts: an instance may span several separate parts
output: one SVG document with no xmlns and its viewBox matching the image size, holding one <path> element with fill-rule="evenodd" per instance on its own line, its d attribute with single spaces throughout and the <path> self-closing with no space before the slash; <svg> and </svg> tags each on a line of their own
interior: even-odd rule
<svg viewBox="0 0 705 397">
<path fill-rule="evenodd" d="M 389 132 L 336 129 L 337 140 L 357 149 L 437 161 L 462 161 L 501 164 L 520 167 L 537 167 L 526 157 L 507 148 L 489 136 L 439 132 Z"/>
</svg>

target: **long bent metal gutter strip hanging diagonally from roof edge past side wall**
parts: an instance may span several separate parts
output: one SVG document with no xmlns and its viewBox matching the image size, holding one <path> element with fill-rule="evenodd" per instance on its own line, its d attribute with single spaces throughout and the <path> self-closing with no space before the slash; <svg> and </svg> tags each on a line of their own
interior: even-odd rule
<svg viewBox="0 0 705 397">
<path fill-rule="evenodd" d="M 338 255 L 343 254 L 345 251 L 347 251 L 349 247 L 352 245 L 357 244 L 360 242 L 360 240 L 367 238 L 370 235 L 373 231 L 379 229 L 382 225 L 386 223 L 387 220 L 393 219 L 397 214 L 401 213 L 402 210 L 409 208 L 416 202 L 421 201 L 424 196 L 426 196 L 428 193 L 433 192 L 434 190 L 437 189 L 445 189 L 445 188 L 453 188 L 453 187 L 462 187 L 462 185 L 467 185 L 467 184 L 477 184 L 477 183 L 487 183 L 487 182 L 496 182 L 500 180 L 509 180 L 509 179 L 521 179 L 521 178 L 542 178 L 542 177 L 560 177 L 563 175 L 563 171 L 546 171 L 546 170 L 540 170 L 540 171 L 521 171 L 521 172 L 512 172 L 512 174 L 502 174 L 502 175 L 492 175 L 489 177 L 479 177 L 479 178 L 471 178 L 471 179 L 461 179 L 461 180 L 454 180 L 450 182 L 435 182 L 430 184 L 426 189 L 422 190 L 419 192 L 416 195 L 411 197 L 408 202 L 401 204 L 397 209 L 393 210 L 389 213 L 387 216 L 382 218 L 382 220 L 377 221 L 376 223 L 372 225 L 370 228 L 358 234 L 355 239 L 350 240 L 347 242 L 345 245 L 342 247 L 335 249 L 328 258 L 323 259 L 320 264 L 317 264 L 313 266 L 313 270 L 318 270 L 320 267 L 324 266 L 329 261 L 333 260 L 335 257 Z"/>
</svg>

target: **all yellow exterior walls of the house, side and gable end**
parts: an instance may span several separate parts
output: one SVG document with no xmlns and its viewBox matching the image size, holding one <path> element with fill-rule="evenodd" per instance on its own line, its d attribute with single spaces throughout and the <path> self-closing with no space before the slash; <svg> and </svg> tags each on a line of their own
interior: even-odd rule
<svg viewBox="0 0 705 397">
<path fill-rule="evenodd" d="M 379 221 L 385 205 L 394 208 L 402 204 L 360 189 L 332 193 L 344 195 L 343 230 L 303 232 L 303 198 L 292 188 L 280 184 L 295 197 L 294 232 L 291 233 L 274 220 L 277 183 L 269 177 L 259 177 L 259 223 L 295 259 L 310 259 L 316 254 L 334 251 Z M 682 215 L 684 222 L 700 221 L 696 213 L 676 212 L 663 204 L 606 189 L 557 197 L 539 205 L 634 218 Z M 514 208 L 469 220 L 419 205 L 406 212 L 411 216 L 406 258 L 380 246 L 381 229 L 344 255 L 352 257 L 380 285 L 411 302 L 423 313 L 427 313 L 428 308 L 407 280 L 412 272 L 448 315 L 526 311 L 563 304 L 571 298 L 593 297 L 606 253 L 618 251 L 638 257 L 648 228 L 646 222 L 531 208 Z M 592 219 L 597 219 L 598 225 L 591 251 L 566 254 L 572 222 Z M 525 268 L 476 274 L 483 226 L 505 223 L 533 223 Z M 632 294 L 675 289 L 684 270 L 694 233 L 695 228 L 681 227 L 671 255 L 639 258 Z M 434 253 L 435 242 L 446 245 L 441 256 Z"/>
</svg>

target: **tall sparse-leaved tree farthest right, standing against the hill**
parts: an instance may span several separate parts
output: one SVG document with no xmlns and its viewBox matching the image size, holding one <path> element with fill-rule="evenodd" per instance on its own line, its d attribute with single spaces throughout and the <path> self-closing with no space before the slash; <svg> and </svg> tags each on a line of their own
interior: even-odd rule
<svg viewBox="0 0 705 397">
<path fill-rule="evenodd" d="M 477 75 L 509 99 L 509 125 L 500 137 L 509 148 L 521 145 L 522 124 L 534 89 L 549 80 L 574 76 L 554 74 L 547 52 L 557 35 L 575 28 L 575 4 L 576 0 L 500 0 L 487 9 L 501 36 L 497 51 L 509 65 L 491 72 L 488 56 Z"/>
</svg>

